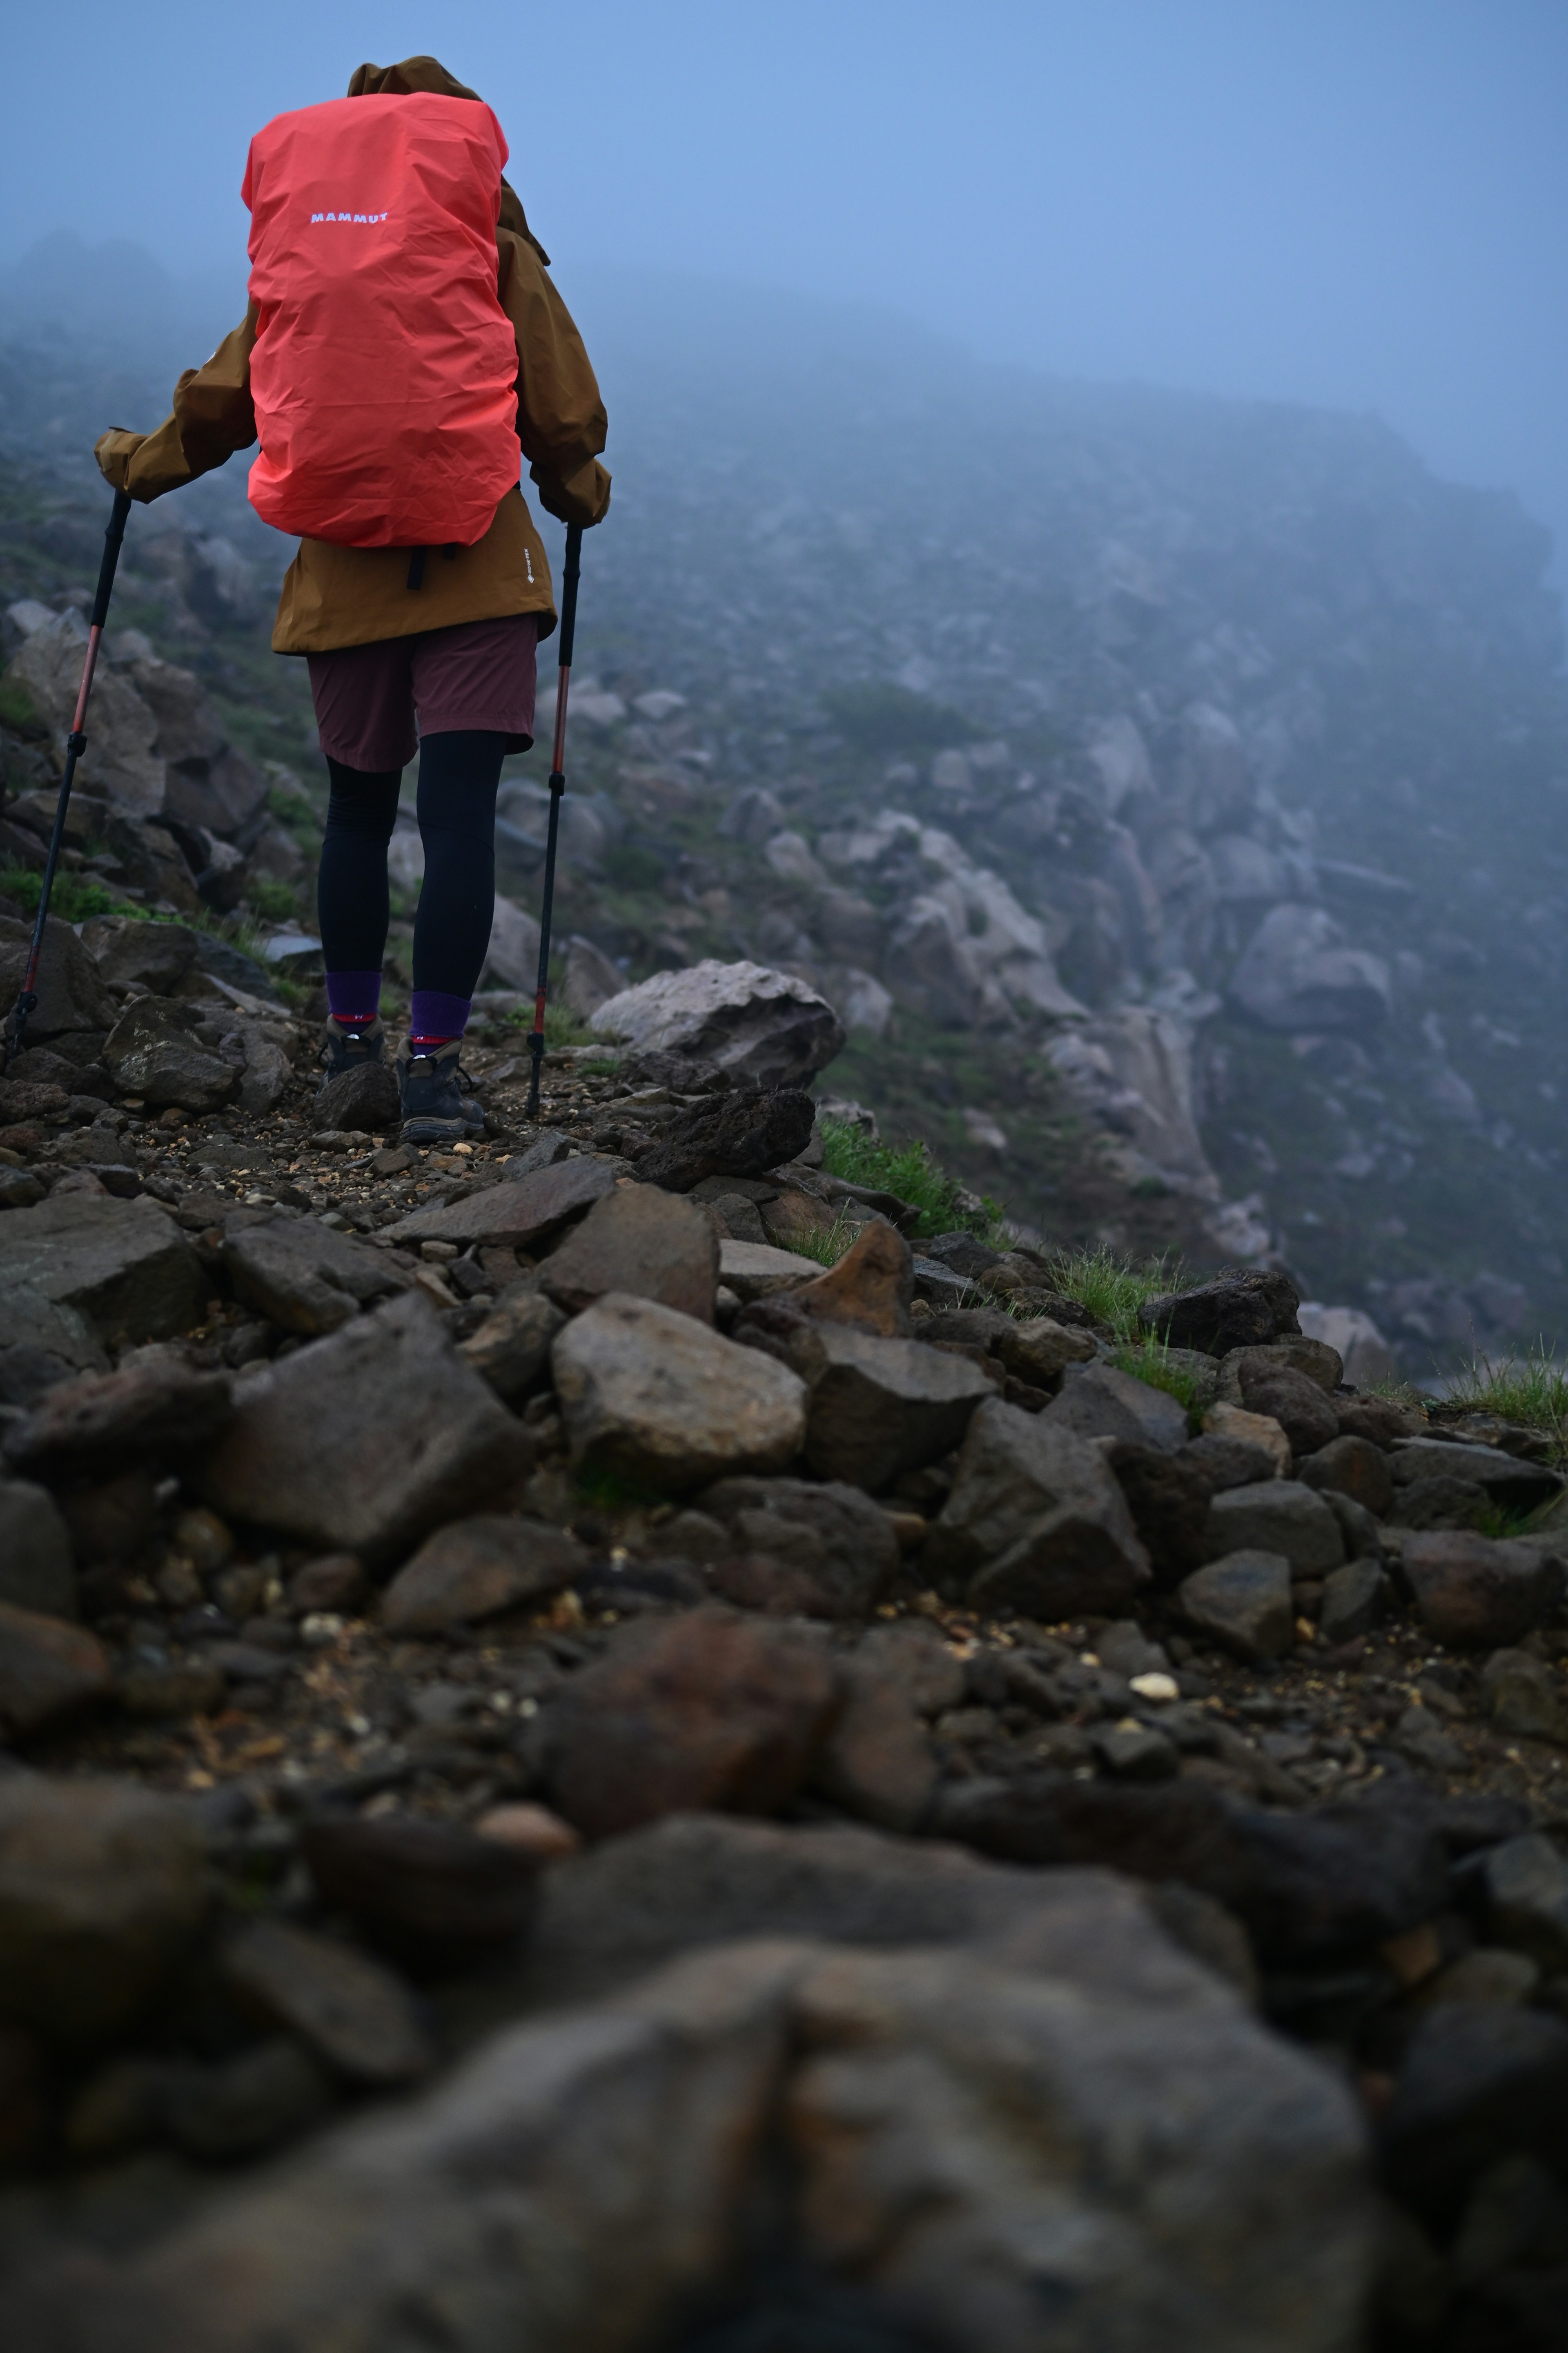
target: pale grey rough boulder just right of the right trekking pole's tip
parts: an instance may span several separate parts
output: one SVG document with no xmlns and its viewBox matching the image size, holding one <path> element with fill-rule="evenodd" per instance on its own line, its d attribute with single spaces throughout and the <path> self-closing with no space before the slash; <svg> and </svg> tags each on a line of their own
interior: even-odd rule
<svg viewBox="0 0 1568 2353">
<path fill-rule="evenodd" d="M 806 981 L 715 958 L 623 988 L 599 1005 L 590 1028 L 637 1052 L 717 1064 L 762 1087 L 804 1087 L 844 1047 L 839 1016 Z"/>
</svg>

